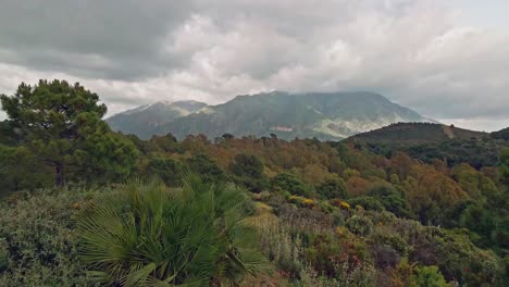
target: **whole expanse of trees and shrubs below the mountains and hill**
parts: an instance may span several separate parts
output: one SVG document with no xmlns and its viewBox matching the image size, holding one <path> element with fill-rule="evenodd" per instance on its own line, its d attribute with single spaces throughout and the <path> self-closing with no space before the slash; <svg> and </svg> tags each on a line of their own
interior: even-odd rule
<svg viewBox="0 0 509 287">
<path fill-rule="evenodd" d="M 141 140 L 77 83 L 0 100 L 0 286 L 509 286 L 508 149 L 472 164 L 276 135 Z"/>
</svg>

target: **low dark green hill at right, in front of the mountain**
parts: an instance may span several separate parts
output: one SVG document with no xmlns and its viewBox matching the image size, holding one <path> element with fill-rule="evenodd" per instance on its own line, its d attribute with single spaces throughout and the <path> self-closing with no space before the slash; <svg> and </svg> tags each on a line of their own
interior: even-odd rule
<svg viewBox="0 0 509 287">
<path fill-rule="evenodd" d="M 427 123 L 398 123 L 348 140 L 385 157 L 402 151 L 427 163 L 440 160 L 449 166 L 469 163 L 476 169 L 497 165 L 501 150 L 509 147 L 509 141 L 487 133 Z"/>
</svg>

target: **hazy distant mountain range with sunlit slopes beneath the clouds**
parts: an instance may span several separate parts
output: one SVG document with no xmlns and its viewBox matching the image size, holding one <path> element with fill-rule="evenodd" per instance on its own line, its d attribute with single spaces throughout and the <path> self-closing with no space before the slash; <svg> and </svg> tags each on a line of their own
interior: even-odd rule
<svg viewBox="0 0 509 287">
<path fill-rule="evenodd" d="M 175 113 L 172 105 L 140 107 L 108 122 L 113 129 L 141 138 L 167 133 L 181 139 L 189 134 L 209 138 L 275 134 L 282 139 L 338 140 L 397 122 L 431 121 L 372 92 L 262 92 L 218 105 L 194 105 L 200 109 L 186 110 L 187 114 Z"/>
</svg>

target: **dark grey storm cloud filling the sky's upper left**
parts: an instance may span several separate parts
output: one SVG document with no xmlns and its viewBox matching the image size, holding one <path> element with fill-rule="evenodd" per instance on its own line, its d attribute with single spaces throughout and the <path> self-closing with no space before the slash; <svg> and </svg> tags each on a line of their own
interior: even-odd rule
<svg viewBox="0 0 509 287">
<path fill-rule="evenodd" d="M 87 77 L 133 79 L 178 66 L 160 40 L 190 13 L 172 0 L 4 0 L 0 61 Z M 1 57 L 1 53 L 0 53 Z"/>
</svg>

